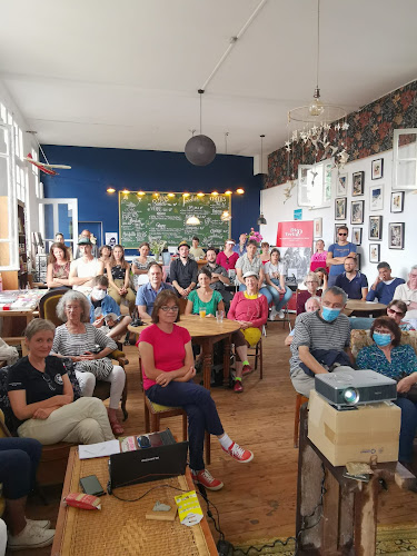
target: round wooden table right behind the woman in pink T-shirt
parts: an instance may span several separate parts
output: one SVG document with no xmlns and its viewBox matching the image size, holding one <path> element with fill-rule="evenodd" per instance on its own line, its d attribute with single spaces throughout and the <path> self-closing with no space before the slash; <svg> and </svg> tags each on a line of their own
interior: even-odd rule
<svg viewBox="0 0 417 556">
<path fill-rule="evenodd" d="M 201 346 L 202 350 L 202 380 L 203 386 L 210 389 L 212 346 L 220 340 L 225 340 L 224 355 L 224 384 L 228 384 L 230 370 L 230 338 L 240 325 L 236 320 L 224 318 L 221 324 L 217 322 L 216 317 L 200 318 L 198 315 L 181 315 L 178 326 L 187 328 L 192 341 Z M 128 329 L 139 335 L 143 326 L 128 326 Z"/>
</svg>

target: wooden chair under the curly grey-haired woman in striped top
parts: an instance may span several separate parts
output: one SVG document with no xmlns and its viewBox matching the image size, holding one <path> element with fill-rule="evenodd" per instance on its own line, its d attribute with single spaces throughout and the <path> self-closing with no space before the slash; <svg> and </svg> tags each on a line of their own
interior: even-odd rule
<svg viewBox="0 0 417 556">
<path fill-rule="evenodd" d="M 60 320 L 57 316 L 57 305 L 61 297 L 67 294 L 68 289 L 56 289 L 52 291 L 48 291 L 39 305 L 39 314 L 40 318 L 46 318 L 51 320 L 56 326 L 62 325 L 62 320 Z M 120 349 L 115 349 L 109 357 L 115 359 L 120 367 L 125 369 L 126 364 L 126 355 Z M 106 383 L 105 380 L 97 380 L 96 388 L 92 395 L 96 398 L 101 400 L 108 399 L 110 397 L 110 383 Z M 126 375 L 125 388 L 121 395 L 121 410 L 123 413 L 123 420 L 126 420 L 129 416 L 128 410 L 126 409 L 126 401 L 128 399 L 128 376 Z"/>
</svg>

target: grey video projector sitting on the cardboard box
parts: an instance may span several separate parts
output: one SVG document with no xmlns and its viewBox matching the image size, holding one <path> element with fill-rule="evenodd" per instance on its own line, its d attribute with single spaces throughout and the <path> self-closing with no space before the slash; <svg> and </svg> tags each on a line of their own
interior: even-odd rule
<svg viewBox="0 0 417 556">
<path fill-rule="evenodd" d="M 397 399 L 397 383 L 369 369 L 316 375 L 315 388 L 338 409 Z"/>
</svg>

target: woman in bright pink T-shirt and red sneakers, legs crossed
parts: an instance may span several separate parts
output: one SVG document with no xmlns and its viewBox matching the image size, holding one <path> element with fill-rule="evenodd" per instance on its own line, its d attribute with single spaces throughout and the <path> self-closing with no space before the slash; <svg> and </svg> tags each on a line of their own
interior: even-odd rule
<svg viewBox="0 0 417 556">
<path fill-rule="evenodd" d="M 179 320 L 178 297 L 161 291 L 153 305 L 152 325 L 139 339 L 143 373 L 143 388 L 148 398 L 168 407 L 182 407 L 188 416 L 190 467 L 195 483 L 209 490 L 219 490 L 224 484 L 205 468 L 202 448 L 206 430 L 216 435 L 221 448 L 239 463 L 254 459 L 250 450 L 241 448 L 225 433 L 210 391 L 196 385 L 191 337 Z"/>
</svg>

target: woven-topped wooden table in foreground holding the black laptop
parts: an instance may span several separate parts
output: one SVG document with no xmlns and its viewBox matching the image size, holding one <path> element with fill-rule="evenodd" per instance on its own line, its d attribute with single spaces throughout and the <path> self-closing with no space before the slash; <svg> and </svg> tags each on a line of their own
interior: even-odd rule
<svg viewBox="0 0 417 556">
<path fill-rule="evenodd" d="M 108 457 L 80 460 L 78 448 L 72 447 L 68 458 L 62 500 L 68 493 L 80 493 L 80 477 L 88 475 L 97 475 L 106 489 L 109 479 L 108 460 Z M 116 494 L 120 498 L 138 498 L 150 488 L 167 484 L 181 490 L 195 490 L 187 468 L 186 475 L 118 488 Z M 77 509 L 61 504 L 51 555 L 217 555 L 216 544 L 205 517 L 193 527 L 181 525 L 178 516 L 175 522 L 145 518 L 145 514 L 151 510 L 156 500 L 175 504 L 173 497 L 178 494 L 180 493 L 173 488 L 157 488 L 135 503 L 121 502 L 107 495 L 101 497 L 101 510 Z"/>
</svg>

